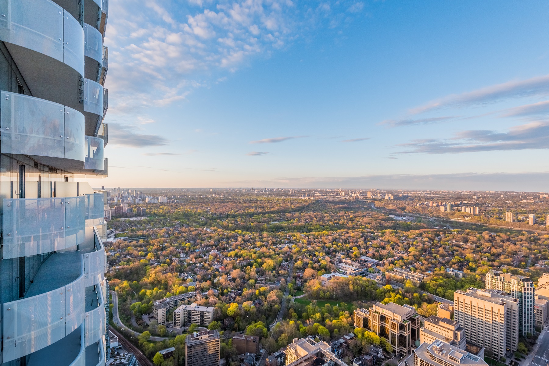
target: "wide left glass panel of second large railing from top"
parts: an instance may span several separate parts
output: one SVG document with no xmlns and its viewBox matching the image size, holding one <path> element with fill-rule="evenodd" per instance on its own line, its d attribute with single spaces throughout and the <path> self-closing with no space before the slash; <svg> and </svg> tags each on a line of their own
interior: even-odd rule
<svg viewBox="0 0 549 366">
<path fill-rule="evenodd" d="M 63 105 L 3 91 L 1 108 L 2 153 L 65 157 Z"/>
</svg>

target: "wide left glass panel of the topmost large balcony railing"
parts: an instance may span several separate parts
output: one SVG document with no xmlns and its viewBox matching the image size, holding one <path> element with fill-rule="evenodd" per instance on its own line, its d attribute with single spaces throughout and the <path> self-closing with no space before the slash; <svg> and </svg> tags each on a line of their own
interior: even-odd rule
<svg viewBox="0 0 549 366">
<path fill-rule="evenodd" d="M 0 0 L 0 13 L 0 40 L 63 62 L 63 8 L 47 0 Z"/>
</svg>

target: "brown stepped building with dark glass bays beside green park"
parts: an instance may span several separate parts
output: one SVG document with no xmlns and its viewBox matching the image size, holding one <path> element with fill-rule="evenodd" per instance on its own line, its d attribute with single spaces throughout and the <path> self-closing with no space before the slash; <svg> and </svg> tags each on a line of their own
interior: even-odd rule
<svg viewBox="0 0 549 366">
<path fill-rule="evenodd" d="M 377 302 L 369 309 L 355 310 L 354 322 L 356 327 L 384 337 L 396 354 L 411 354 L 412 345 L 419 340 L 419 315 L 409 305 Z"/>
</svg>

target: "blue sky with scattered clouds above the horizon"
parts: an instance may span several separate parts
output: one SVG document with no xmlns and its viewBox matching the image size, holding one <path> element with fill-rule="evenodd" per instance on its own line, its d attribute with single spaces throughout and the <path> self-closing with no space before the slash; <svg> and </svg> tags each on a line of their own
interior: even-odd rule
<svg viewBox="0 0 549 366">
<path fill-rule="evenodd" d="M 111 0 L 91 183 L 544 192 L 548 10 Z"/>
</svg>

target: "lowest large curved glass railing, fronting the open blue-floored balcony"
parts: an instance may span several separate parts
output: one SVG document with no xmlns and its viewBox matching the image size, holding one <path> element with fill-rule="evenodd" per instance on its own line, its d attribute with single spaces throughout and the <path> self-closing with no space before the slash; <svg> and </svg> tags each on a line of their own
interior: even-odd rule
<svg viewBox="0 0 549 366">
<path fill-rule="evenodd" d="M 59 257 L 61 260 L 64 259 L 64 256 Z M 52 345 L 82 324 L 86 318 L 86 288 L 83 258 L 81 256 L 80 258 L 81 275 L 71 283 L 42 294 L 3 304 L 4 362 Z M 56 259 L 57 257 L 52 258 L 52 261 Z M 47 268 L 45 271 L 47 272 Z M 58 268 L 57 271 L 59 271 Z M 37 276 L 40 274 L 38 272 Z"/>
</svg>

